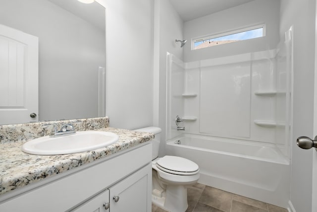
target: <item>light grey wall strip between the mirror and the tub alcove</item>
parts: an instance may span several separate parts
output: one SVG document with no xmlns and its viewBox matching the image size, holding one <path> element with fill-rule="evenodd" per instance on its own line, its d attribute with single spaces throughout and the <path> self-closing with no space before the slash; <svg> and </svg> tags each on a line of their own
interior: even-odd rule
<svg viewBox="0 0 317 212">
<path fill-rule="evenodd" d="M 106 115 L 110 127 L 153 125 L 153 1 L 106 4 Z"/>
</svg>

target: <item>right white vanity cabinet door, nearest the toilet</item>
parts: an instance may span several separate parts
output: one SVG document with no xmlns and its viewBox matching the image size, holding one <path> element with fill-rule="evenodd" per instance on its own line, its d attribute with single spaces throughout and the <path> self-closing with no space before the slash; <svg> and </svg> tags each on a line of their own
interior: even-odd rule
<svg viewBox="0 0 317 212">
<path fill-rule="evenodd" d="M 110 212 L 151 212 L 152 165 L 110 187 Z"/>
</svg>

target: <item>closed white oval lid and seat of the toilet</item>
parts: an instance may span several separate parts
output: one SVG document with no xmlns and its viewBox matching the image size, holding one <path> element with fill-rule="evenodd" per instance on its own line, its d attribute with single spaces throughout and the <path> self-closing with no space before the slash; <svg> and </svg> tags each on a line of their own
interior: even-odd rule
<svg viewBox="0 0 317 212">
<path fill-rule="evenodd" d="M 194 175 L 199 172 L 198 165 L 193 161 L 170 155 L 160 158 L 157 167 L 162 171 L 179 175 Z"/>
</svg>

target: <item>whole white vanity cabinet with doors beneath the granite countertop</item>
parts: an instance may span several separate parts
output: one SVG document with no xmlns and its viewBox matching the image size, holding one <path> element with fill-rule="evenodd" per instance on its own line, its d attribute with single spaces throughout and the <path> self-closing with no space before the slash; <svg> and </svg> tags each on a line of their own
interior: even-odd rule
<svg viewBox="0 0 317 212">
<path fill-rule="evenodd" d="M 151 212 L 151 159 L 150 142 L 118 152 L 23 193 L 13 191 L 13 197 L 2 198 L 0 212 Z"/>
</svg>

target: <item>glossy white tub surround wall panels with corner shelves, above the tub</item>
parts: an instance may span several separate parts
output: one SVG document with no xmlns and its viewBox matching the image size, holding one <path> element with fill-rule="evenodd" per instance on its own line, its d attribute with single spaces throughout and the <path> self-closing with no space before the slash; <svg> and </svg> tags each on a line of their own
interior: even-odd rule
<svg viewBox="0 0 317 212">
<path fill-rule="evenodd" d="M 273 143 L 290 158 L 291 41 L 276 49 L 184 63 L 167 55 L 166 136 Z"/>
</svg>

